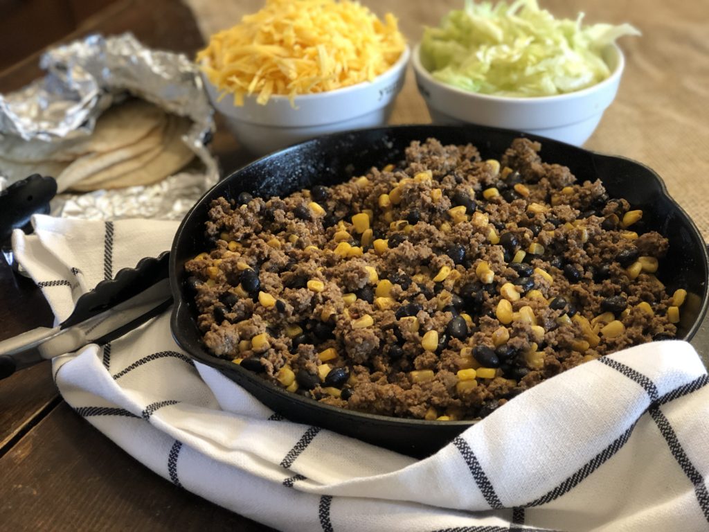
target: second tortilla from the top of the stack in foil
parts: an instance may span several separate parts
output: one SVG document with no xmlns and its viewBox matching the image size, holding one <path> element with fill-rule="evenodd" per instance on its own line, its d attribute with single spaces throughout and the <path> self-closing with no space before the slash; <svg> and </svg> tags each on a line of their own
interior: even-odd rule
<svg viewBox="0 0 709 532">
<path fill-rule="evenodd" d="M 108 152 L 90 153 L 89 155 L 79 157 L 67 166 L 59 177 L 57 177 L 58 192 L 69 189 L 74 184 L 98 174 L 101 170 L 105 170 L 121 162 L 133 160 L 135 157 L 153 148 L 159 148 L 164 142 L 164 137 L 169 127 L 170 121 L 167 119 L 167 116 L 162 116 L 160 123 L 147 133 L 147 135 L 133 144 L 125 145 Z"/>
</svg>

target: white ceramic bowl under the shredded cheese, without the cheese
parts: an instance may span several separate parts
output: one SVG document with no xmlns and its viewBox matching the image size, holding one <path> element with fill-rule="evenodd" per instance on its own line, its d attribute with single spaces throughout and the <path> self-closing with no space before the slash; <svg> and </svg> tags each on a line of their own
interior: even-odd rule
<svg viewBox="0 0 709 532">
<path fill-rule="evenodd" d="M 383 126 L 403 86 L 409 55 L 407 47 L 372 82 L 296 96 L 295 107 L 287 96 L 271 96 L 266 105 L 257 104 L 255 96 L 247 97 L 238 107 L 230 94 L 219 101 L 218 89 L 205 75 L 202 79 L 212 105 L 225 116 L 239 142 L 254 155 L 264 155 L 326 133 Z"/>
</svg>

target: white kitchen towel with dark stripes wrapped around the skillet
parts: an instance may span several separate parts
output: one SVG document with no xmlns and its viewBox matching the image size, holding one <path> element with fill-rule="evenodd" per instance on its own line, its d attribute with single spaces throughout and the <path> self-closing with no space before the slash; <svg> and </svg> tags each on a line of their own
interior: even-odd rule
<svg viewBox="0 0 709 532">
<path fill-rule="evenodd" d="M 60 322 L 177 224 L 35 216 L 13 235 Z M 709 377 L 665 341 L 564 372 L 425 460 L 286 421 L 193 362 L 159 316 L 55 360 L 78 414 L 158 475 L 287 531 L 709 529 Z"/>
</svg>

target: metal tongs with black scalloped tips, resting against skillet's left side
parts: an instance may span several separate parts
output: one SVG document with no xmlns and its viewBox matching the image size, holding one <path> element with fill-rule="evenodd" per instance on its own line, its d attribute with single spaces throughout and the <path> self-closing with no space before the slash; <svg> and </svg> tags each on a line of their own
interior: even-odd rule
<svg viewBox="0 0 709 532">
<path fill-rule="evenodd" d="M 104 345 L 157 316 L 172 304 L 168 253 L 145 258 L 101 281 L 77 301 L 55 328 L 38 327 L 0 342 L 0 379 L 43 360 L 96 343 Z"/>
</svg>

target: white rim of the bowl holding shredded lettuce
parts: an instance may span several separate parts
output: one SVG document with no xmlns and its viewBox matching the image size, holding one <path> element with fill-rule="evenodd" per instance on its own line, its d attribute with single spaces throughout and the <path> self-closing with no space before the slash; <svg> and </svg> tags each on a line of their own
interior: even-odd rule
<svg viewBox="0 0 709 532">
<path fill-rule="evenodd" d="M 450 92 L 456 92 L 465 96 L 472 96 L 474 98 L 479 98 L 481 100 L 496 101 L 496 102 L 515 102 L 520 104 L 533 104 L 542 103 L 545 101 L 562 101 L 566 99 L 574 99 L 586 96 L 592 92 L 603 89 L 608 85 L 615 84 L 618 82 L 618 78 L 623 75 L 623 69 L 625 68 L 625 57 L 623 56 L 623 50 L 620 49 L 617 43 L 610 43 L 605 49 L 612 49 L 618 57 L 618 64 L 615 65 L 613 72 L 610 72 L 610 76 L 603 79 L 603 81 L 591 85 L 591 87 L 586 87 L 573 92 L 565 92 L 564 94 L 550 94 L 549 96 L 496 96 L 494 94 L 481 94 L 479 92 L 466 91 L 464 89 L 459 89 L 458 87 L 453 87 L 452 85 L 443 83 L 435 79 L 428 70 L 426 70 L 423 65 L 421 65 L 419 59 L 421 43 L 415 45 L 413 49 L 413 54 L 411 55 L 411 63 L 413 65 L 413 70 L 416 74 L 423 77 L 430 84 L 435 84 L 438 87 L 442 87 Z M 604 50 L 605 50 L 604 49 Z M 605 60 L 603 60 L 605 62 Z M 607 63 L 606 63 L 607 64 Z"/>
</svg>

